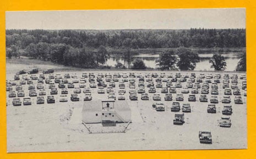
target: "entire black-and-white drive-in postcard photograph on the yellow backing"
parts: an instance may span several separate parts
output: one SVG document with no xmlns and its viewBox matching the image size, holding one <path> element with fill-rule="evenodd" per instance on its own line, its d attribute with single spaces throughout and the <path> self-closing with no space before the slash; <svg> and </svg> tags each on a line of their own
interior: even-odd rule
<svg viewBox="0 0 256 159">
<path fill-rule="evenodd" d="M 246 9 L 6 12 L 7 152 L 247 149 Z"/>
</svg>

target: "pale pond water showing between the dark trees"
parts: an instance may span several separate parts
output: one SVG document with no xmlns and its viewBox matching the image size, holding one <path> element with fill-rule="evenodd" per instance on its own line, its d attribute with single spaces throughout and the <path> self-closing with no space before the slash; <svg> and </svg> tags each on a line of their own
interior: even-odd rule
<svg viewBox="0 0 256 159">
<path fill-rule="evenodd" d="M 238 58 L 239 54 L 241 53 L 222 54 L 225 57 L 225 61 L 227 63 L 225 71 L 235 71 L 237 63 L 239 61 L 239 58 Z M 211 64 L 209 63 L 209 60 L 213 57 L 213 54 L 198 54 L 198 55 L 200 57 L 200 61 L 199 63 L 197 63 L 195 70 L 196 71 L 214 71 L 213 68 L 210 68 Z M 134 59 L 136 58 L 143 60 L 147 67 L 151 67 L 152 69 L 157 69 L 155 60 L 159 58 L 159 54 L 134 55 Z M 121 56 L 118 56 L 118 55 L 110 56 L 110 58 L 107 59 L 106 65 L 115 66 L 118 62 L 124 64 L 124 61 Z M 127 64 L 124 64 L 124 65 L 128 66 Z"/>
</svg>

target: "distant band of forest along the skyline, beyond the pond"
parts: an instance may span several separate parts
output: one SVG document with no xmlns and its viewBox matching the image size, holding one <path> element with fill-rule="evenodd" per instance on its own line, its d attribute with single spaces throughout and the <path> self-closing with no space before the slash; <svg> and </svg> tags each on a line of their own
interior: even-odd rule
<svg viewBox="0 0 256 159">
<path fill-rule="evenodd" d="M 74 48 L 239 48 L 246 47 L 246 30 L 6 30 L 7 48 L 25 49 L 39 42 Z"/>
</svg>

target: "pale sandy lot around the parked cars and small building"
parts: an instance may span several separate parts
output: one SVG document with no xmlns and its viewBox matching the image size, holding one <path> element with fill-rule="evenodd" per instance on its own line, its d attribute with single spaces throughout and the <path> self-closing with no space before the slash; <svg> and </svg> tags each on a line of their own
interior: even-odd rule
<svg viewBox="0 0 256 159">
<path fill-rule="evenodd" d="M 14 73 L 22 69 L 29 69 L 31 65 L 13 65 L 7 64 L 7 79 L 13 79 Z M 37 65 L 40 67 L 40 65 Z M 47 66 L 42 66 L 42 69 Z M 78 77 L 82 72 L 92 71 L 73 71 Z M 68 73 L 73 73 L 68 72 Z M 93 71 L 95 75 L 98 72 L 115 73 L 120 71 Z M 127 71 L 147 73 L 152 71 Z M 155 72 L 155 71 L 153 71 Z M 67 72 L 55 72 L 64 74 Z M 160 73 L 160 71 L 157 71 Z M 166 73 L 170 73 L 167 72 Z M 175 75 L 176 72 L 171 72 Z M 181 72 L 182 75 L 190 72 Z M 196 75 L 202 72 L 195 72 Z M 209 72 L 203 72 L 207 75 Z M 213 75 L 215 74 L 214 72 Z M 219 73 L 219 72 L 218 72 Z M 223 72 L 234 74 L 234 72 Z M 236 72 L 241 75 L 241 72 Z M 243 73 L 244 74 L 244 73 Z M 37 74 L 38 75 L 38 74 Z M 238 78 L 238 85 L 241 88 L 241 79 Z M 34 81 L 36 83 L 36 81 Z M 146 82 L 145 82 L 146 83 Z M 89 82 L 86 82 L 89 86 Z M 118 86 L 118 83 L 116 82 Z M 219 101 L 224 90 L 222 83 L 219 85 Z M 47 84 L 45 84 L 46 88 Z M 57 84 L 56 84 L 57 86 Z M 78 86 L 78 84 L 77 84 Z M 186 82 L 182 83 L 186 86 Z M 28 86 L 23 86 L 25 96 L 28 96 Z M 104 133 L 89 134 L 88 130 L 81 124 L 81 109 L 83 107 L 82 99 L 84 93 L 79 94 L 80 101 L 70 101 L 70 94 L 73 91 L 69 89 L 68 102 L 59 103 L 59 95 L 55 95 L 55 104 L 36 104 L 36 97 L 32 98 L 30 106 L 12 106 L 12 99 L 7 98 L 7 150 L 8 152 L 43 152 L 43 151 L 123 151 L 123 150 L 183 150 L 183 149 L 244 149 L 247 148 L 247 104 L 246 96 L 242 99 L 244 104 L 235 104 L 234 95 L 231 95 L 231 104 L 233 114 L 231 115 L 231 128 L 221 128 L 218 126 L 222 114 L 221 110 L 224 104 L 216 104 L 217 113 L 207 113 L 206 107 L 210 103 L 200 103 L 197 94 L 197 102 L 189 102 L 192 106 L 191 113 L 185 113 L 185 123 L 183 126 L 173 125 L 175 112 L 171 112 L 170 106 L 175 101 L 164 101 L 164 94 L 161 94 L 161 88 L 157 88 L 157 93 L 161 94 L 162 103 L 167 108 L 164 112 L 157 112 L 152 109 L 152 94 L 149 101 L 141 101 L 138 94 L 138 101 L 129 100 L 128 82 L 126 83 L 126 100 L 128 100 L 132 110 L 132 123 L 129 124 L 126 133 Z M 138 78 L 136 81 L 138 88 Z M 15 89 L 15 87 L 13 87 Z M 105 88 L 106 89 L 106 88 Z M 50 90 L 47 90 L 47 95 Z M 177 88 L 177 93 L 181 89 Z M 118 87 L 115 88 L 118 92 Z M 148 88 L 146 88 L 148 92 Z M 200 90 L 199 90 L 200 92 Z M 116 93 L 117 95 L 117 93 Z M 8 93 L 7 93 L 8 96 Z M 97 88 L 92 89 L 92 100 L 106 99 L 107 94 L 97 94 Z M 208 94 L 208 101 L 211 94 Z M 188 103 L 188 94 L 184 94 L 184 101 Z M 213 144 L 200 144 L 198 139 L 199 130 L 209 130 L 212 133 Z"/>
</svg>

